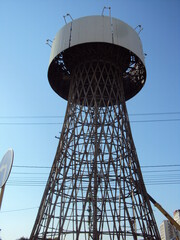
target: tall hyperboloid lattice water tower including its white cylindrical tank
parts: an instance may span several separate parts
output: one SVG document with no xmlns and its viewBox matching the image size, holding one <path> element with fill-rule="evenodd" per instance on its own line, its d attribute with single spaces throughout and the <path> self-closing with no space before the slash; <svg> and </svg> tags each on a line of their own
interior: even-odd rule
<svg viewBox="0 0 180 240">
<path fill-rule="evenodd" d="M 31 239 L 160 239 L 125 103 L 146 80 L 136 31 L 73 20 L 53 41 L 48 79 L 68 104 Z"/>
</svg>

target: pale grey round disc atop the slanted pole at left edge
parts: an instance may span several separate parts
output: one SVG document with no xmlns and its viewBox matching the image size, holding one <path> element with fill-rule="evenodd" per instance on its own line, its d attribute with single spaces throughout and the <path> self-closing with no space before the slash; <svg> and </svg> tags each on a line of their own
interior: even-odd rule
<svg viewBox="0 0 180 240">
<path fill-rule="evenodd" d="M 9 177 L 14 159 L 13 149 L 9 149 L 0 163 L 0 188 L 2 188 Z"/>
</svg>

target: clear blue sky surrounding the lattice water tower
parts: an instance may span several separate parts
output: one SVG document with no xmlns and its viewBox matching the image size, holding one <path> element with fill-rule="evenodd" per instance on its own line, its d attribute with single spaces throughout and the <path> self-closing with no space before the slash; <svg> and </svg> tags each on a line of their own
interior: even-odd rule
<svg viewBox="0 0 180 240">
<path fill-rule="evenodd" d="M 50 116 L 65 114 L 66 102 L 47 80 L 51 49 L 46 39 L 53 40 L 65 24 L 66 13 L 74 19 L 100 15 L 104 6 L 111 6 L 113 17 L 143 27 L 140 37 L 147 54 L 147 81 L 127 102 L 140 165 L 180 165 L 180 120 L 145 122 L 180 119 L 179 0 L 1 0 L 0 159 L 8 148 L 15 154 L 0 212 L 3 240 L 30 235 L 50 169 L 22 166 L 52 165 L 58 145 L 55 136 L 61 131 L 63 117 Z M 174 112 L 177 114 L 170 114 Z M 158 115 L 132 115 L 137 113 Z M 142 170 L 169 171 L 145 172 L 145 181 L 151 179 L 147 190 L 170 214 L 179 209 L 180 167 Z M 153 185 L 152 178 L 163 183 L 171 178 L 173 184 L 156 181 Z M 164 217 L 153 210 L 159 226 Z"/>
</svg>

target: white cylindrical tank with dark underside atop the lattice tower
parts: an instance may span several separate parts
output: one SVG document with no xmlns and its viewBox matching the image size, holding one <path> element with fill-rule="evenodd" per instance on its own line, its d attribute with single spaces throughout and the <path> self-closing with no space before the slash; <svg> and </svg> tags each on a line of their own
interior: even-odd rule
<svg viewBox="0 0 180 240">
<path fill-rule="evenodd" d="M 129 67 L 123 73 L 126 100 L 136 95 L 146 80 L 146 69 L 141 40 L 137 32 L 123 21 L 109 16 L 87 16 L 66 24 L 56 34 L 52 44 L 49 61 L 48 78 L 51 87 L 61 97 L 67 99 L 71 72 L 64 62 L 63 56 L 74 58 L 74 47 L 86 44 L 110 44 L 123 49 L 129 56 Z M 131 61 L 134 58 L 135 60 Z M 78 58 L 77 58 L 78 61 Z M 136 76 L 136 79 L 135 79 Z M 134 84 L 136 83 L 136 84 Z"/>
</svg>

